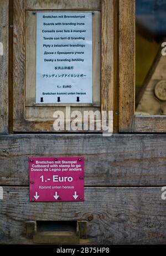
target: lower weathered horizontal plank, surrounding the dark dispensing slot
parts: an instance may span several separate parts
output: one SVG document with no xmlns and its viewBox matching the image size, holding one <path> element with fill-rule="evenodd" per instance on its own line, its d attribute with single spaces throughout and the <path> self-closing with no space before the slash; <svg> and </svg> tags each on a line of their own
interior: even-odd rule
<svg viewBox="0 0 166 256">
<path fill-rule="evenodd" d="M 90 187 L 85 188 L 85 202 L 77 203 L 30 203 L 27 187 L 3 187 L 3 190 L 1 244 L 33 243 L 26 238 L 25 222 L 29 220 L 87 220 L 86 241 L 91 244 L 166 243 L 166 200 L 161 198 L 161 187 Z"/>
</svg>

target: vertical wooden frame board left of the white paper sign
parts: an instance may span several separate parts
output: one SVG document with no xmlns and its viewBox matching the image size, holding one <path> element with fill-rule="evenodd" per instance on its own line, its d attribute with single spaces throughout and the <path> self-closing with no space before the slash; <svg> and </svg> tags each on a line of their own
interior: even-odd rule
<svg viewBox="0 0 166 256">
<path fill-rule="evenodd" d="M 25 1 L 13 7 L 13 130 L 24 120 L 25 87 Z M 21 129 L 20 129 L 21 130 Z"/>
</svg>

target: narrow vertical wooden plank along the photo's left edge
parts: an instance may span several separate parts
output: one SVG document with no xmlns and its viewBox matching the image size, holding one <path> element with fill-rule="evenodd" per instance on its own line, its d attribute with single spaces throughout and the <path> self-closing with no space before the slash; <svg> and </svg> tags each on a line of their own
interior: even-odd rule
<svg viewBox="0 0 166 256">
<path fill-rule="evenodd" d="M 9 1 L 0 1 L 0 134 L 8 134 Z"/>
</svg>

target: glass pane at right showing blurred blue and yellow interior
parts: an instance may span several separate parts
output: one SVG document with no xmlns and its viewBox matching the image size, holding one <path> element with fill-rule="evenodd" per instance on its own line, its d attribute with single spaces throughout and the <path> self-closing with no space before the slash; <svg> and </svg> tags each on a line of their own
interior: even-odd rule
<svg viewBox="0 0 166 256">
<path fill-rule="evenodd" d="M 136 0 L 136 114 L 166 114 L 164 42 L 166 0 Z"/>
</svg>

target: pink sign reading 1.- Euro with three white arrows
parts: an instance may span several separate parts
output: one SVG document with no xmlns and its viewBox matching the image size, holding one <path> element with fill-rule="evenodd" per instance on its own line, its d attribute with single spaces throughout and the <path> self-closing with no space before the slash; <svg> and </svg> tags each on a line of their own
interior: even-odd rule
<svg viewBox="0 0 166 256">
<path fill-rule="evenodd" d="M 84 157 L 29 157 L 30 202 L 84 201 Z"/>
</svg>

